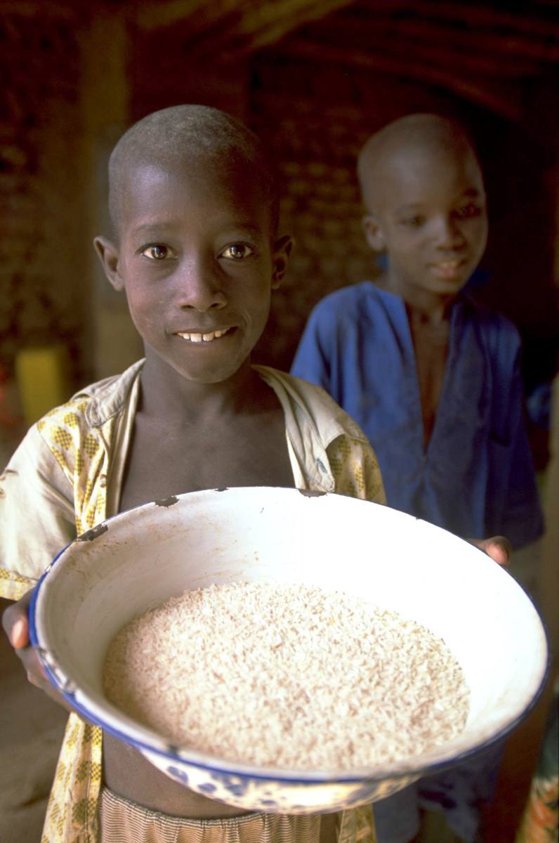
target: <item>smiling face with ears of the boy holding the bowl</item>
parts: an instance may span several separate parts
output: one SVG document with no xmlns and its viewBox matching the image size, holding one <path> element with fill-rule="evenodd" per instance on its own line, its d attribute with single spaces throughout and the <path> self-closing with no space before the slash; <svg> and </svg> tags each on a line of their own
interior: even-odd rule
<svg viewBox="0 0 559 843">
<path fill-rule="evenodd" d="M 254 173 L 202 162 L 129 174 L 118 247 L 95 242 L 124 289 L 146 357 L 215 384 L 247 361 L 266 325 L 290 239 L 271 239 Z"/>
</svg>

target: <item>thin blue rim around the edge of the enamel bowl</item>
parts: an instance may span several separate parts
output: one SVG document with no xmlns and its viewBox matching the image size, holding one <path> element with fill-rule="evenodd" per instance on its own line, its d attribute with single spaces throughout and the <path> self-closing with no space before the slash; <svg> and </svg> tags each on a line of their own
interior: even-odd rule
<svg viewBox="0 0 559 843">
<path fill-rule="evenodd" d="M 220 491 L 220 490 L 218 490 Z M 154 502 L 152 502 L 154 503 Z M 148 504 L 145 504 L 146 506 Z M 105 521 L 100 522 L 96 525 L 96 528 L 102 527 L 108 521 L 112 521 L 114 518 L 118 518 L 119 515 L 123 515 L 131 510 L 124 510 L 122 513 L 116 513 L 116 515 L 110 516 L 110 518 L 106 518 Z M 87 531 L 89 532 L 89 531 Z M 84 535 L 84 534 L 82 534 Z M 533 711 L 537 702 L 540 700 L 540 696 L 543 693 L 544 688 L 546 687 L 546 682 L 549 678 L 550 668 L 551 668 L 551 652 L 550 652 L 550 639 L 549 639 L 549 632 L 546 627 L 546 623 L 540 615 L 539 610 L 535 605 L 534 599 L 529 594 L 529 592 L 524 588 L 522 583 L 519 583 L 518 580 L 514 580 L 515 583 L 522 589 L 526 597 L 529 599 L 530 603 L 533 605 L 535 611 L 540 618 L 540 623 L 542 629 L 544 631 L 544 637 L 546 640 L 546 666 L 544 671 L 541 675 L 540 685 L 538 686 L 537 690 L 535 691 L 535 695 L 532 697 L 531 701 L 529 701 L 528 706 L 524 708 L 523 711 L 519 712 L 517 717 L 514 718 L 512 722 L 509 722 L 506 726 L 503 726 L 499 731 L 492 734 L 491 738 L 487 738 L 483 741 L 483 743 L 476 745 L 472 749 L 465 749 L 464 751 L 454 755 L 452 759 L 449 760 L 441 760 L 435 761 L 432 764 L 427 764 L 425 766 L 411 769 L 407 764 L 406 760 L 402 761 L 400 765 L 396 765 L 394 769 L 387 769 L 383 772 L 382 776 L 375 776 L 374 774 L 371 775 L 371 768 L 363 767 L 358 768 L 356 771 L 352 771 L 352 773 L 344 774 L 341 771 L 324 771 L 317 773 L 314 771 L 313 773 L 309 773 L 307 775 L 306 771 L 298 770 L 293 771 L 292 773 L 288 773 L 285 770 L 276 769 L 273 767 L 256 767 L 250 764 L 244 765 L 239 764 L 234 761 L 225 761 L 220 759 L 215 759 L 211 763 L 208 763 L 206 760 L 202 760 L 199 757 L 199 753 L 196 750 L 183 748 L 180 745 L 173 744 L 172 742 L 166 740 L 165 738 L 160 738 L 161 745 L 153 745 L 149 743 L 145 743 L 142 740 L 137 738 L 133 738 L 131 735 L 126 734 L 126 732 L 121 731 L 118 728 L 106 723 L 101 717 L 93 714 L 89 711 L 87 706 L 84 706 L 81 702 L 76 700 L 75 692 L 65 690 L 62 685 L 56 679 L 56 675 L 53 674 L 51 668 L 49 668 L 48 663 L 41 655 L 41 650 L 44 648 L 41 647 L 39 637 L 37 635 L 37 629 L 35 625 L 35 612 L 36 612 L 36 603 L 39 595 L 39 591 L 41 586 L 48 577 L 49 573 L 52 570 L 52 567 L 56 564 L 56 561 L 62 556 L 66 550 L 78 541 L 80 541 L 80 536 L 77 536 L 72 541 L 68 542 L 62 550 L 56 554 L 56 556 L 52 559 L 50 564 L 46 566 L 45 571 L 41 574 L 39 581 L 36 583 L 35 588 L 33 589 L 33 593 L 31 594 L 30 599 L 30 606 L 28 609 L 28 620 L 30 625 L 30 642 L 32 647 L 35 648 L 38 657 L 40 658 L 40 663 L 46 671 L 46 675 L 51 682 L 51 685 L 62 695 L 62 697 L 72 706 L 74 711 L 77 711 L 78 714 L 81 714 L 82 717 L 87 720 L 88 722 L 94 723 L 95 726 L 99 726 L 99 728 L 103 729 L 105 732 L 110 733 L 113 737 L 119 738 L 120 740 L 124 741 L 124 743 L 129 744 L 130 746 L 138 749 L 140 751 L 147 750 L 148 752 L 152 752 L 158 755 L 161 755 L 163 758 L 168 759 L 169 761 L 189 764 L 194 767 L 200 768 L 202 770 L 206 770 L 211 773 L 215 773 L 217 776 L 245 776 L 250 777 L 253 779 L 258 779 L 262 781 L 279 781 L 285 782 L 286 784 L 304 784 L 304 785 L 336 785 L 336 784 L 360 784 L 365 781 L 367 782 L 380 782 L 386 781 L 387 779 L 397 779 L 403 778 L 406 776 L 415 776 L 419 778 L 421 776 L 431 776 L 435 773 L 448 770 L 450 767 L 454 767 L 456 765 L 461 764 L 463 761 L 472 758 L 474 755 L 481 754 L 488 749 L 491 749 L 496 744 L 499 744 L 505 738 L 508 737 L 510 733 L 513 732 L 515 728 L 519 726 L 519 724 L 529 716 L 529 713 Z M 481 552 L 484 552 L 481 550 Z M 496 563 L 497 564 L 497 563 Z M 506 568 L 505 568 L 506 571 Z M 509 576 L 512 576 L 510 572 L 507 572 Z M 514 578 L 514 577 L 513 577 Z M 46 651 L 45 651 L 46 652 Z M 138 724 L 142 726 L 142 724 Z M 142 727 L 148 728 L 148 727 Z M 154 738 L 155 740 L 156 738 Z M 188 757 L 191 756 L 191 757 Z M 215 766 L 217 764 L 217 766 Z"/>
</svg>

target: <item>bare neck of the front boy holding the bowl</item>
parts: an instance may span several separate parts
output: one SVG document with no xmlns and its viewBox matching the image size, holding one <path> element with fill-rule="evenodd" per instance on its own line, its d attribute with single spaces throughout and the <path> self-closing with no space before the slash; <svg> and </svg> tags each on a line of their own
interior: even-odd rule
<svg viewBox="0 0 559 843">
<path fill-rule="evenodd" d="M 249 359 L 231 378 L 217 384 L 200 384 L 146 357 L 140 380 L 138 410 L 166 423 L 201 424 L 218 416 L 258 413 L 269 409 L 275 399 L 272 390 L 251 368 Z"/>
</svg>

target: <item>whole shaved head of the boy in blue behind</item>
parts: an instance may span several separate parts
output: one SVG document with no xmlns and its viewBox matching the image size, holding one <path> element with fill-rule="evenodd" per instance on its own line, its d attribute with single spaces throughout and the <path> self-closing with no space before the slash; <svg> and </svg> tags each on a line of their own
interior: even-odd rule
<svg viewBox="0 0 559 843">
<path fill-rule="evenodd" d="M 388 257 L 390 286 L 449 297 L 485 250 L 486 196 L 465 132 L 438 115 L 407 115 L 369 138 L 357 173 L 368 243 Z"/>
</svg>

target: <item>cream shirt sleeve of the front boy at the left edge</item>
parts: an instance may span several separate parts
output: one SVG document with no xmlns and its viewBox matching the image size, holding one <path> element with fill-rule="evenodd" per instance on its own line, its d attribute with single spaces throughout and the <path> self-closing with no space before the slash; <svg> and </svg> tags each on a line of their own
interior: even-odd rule
<svg viewBox="0 0 559 843">
<path fill-rule="evenodd" d="M 31 427 L 0 476 L 0 596 L 22 597 L 75 536 L 72 487 Z"/>
</svg>

